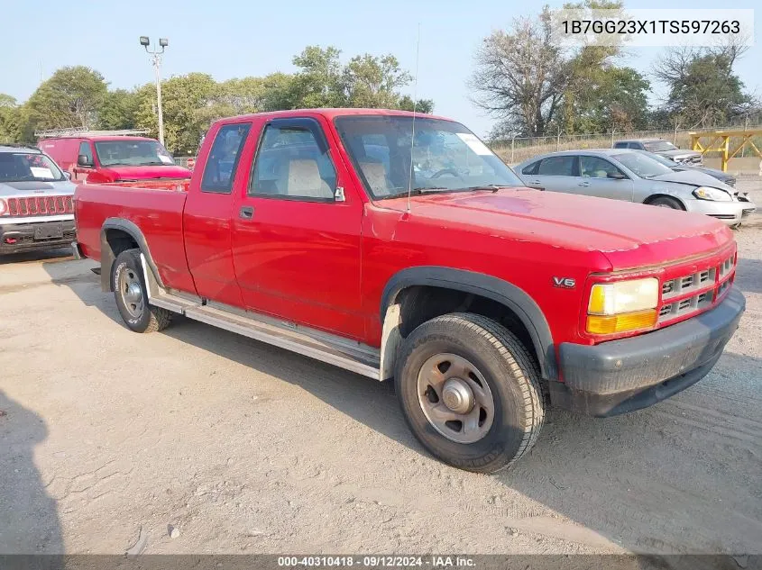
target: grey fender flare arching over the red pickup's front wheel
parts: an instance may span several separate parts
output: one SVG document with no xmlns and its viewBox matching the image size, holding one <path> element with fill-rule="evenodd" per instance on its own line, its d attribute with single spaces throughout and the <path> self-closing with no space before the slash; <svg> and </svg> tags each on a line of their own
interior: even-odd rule
<svg viewBox="0 0 762 570">
<path fill-rule="evenodd" d="M 518 286 L 498 277 L 452 267 L 421 266 L 403 269 L 391 276 L 381 295 L 381 380 L 393 375 L 394 355 L 399 346 L 399 304 L 397 295 L 414 285 L 430 285 L 478 294 L 501 303 L 516 313 L 532 339 L 543 378 L 556 380 L 558 366 L 550 327 L 534 299 Z"/>
</svg>

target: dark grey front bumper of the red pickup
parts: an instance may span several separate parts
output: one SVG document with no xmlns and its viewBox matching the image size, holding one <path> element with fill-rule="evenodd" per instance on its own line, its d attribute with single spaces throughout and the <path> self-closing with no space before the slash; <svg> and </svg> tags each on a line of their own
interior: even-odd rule
<svg viewBox="0 0 762 570">
<path fill-rule="evenodd" d="M 564 342 L 564 382 L 550 382 L 551 402 L 598 417 L 661 402 L 712 370 L 745 309 L 743 294 L 732 287 L 711 311 L 665 329 L 595 346 Z"/>
</svg>

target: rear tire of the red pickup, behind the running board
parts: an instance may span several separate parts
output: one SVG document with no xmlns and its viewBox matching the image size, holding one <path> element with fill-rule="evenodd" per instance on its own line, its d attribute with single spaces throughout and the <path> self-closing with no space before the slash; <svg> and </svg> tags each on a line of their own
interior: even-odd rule
<svg viewBox="0 0 762 570">
<path fill-rule="evenodd" d="M 114 265 L 111 267 L 111 285 L 114 288 L 116 308 L 119 309 L 124 324 L 134 332 L 164 330 L 170 325 L 172 313 L 148 304 L 148 293 L 142 274 L 140 254 L 140 249 L 126 249 L 116 256 Z M 123 274 L 125 280 L 140 285 L 142 299 L 140 311 L 137 310 L 135 303 L 129 303 L 130 306 L 128 307 L 128 303 L 125 301 Z"/>
</svg>

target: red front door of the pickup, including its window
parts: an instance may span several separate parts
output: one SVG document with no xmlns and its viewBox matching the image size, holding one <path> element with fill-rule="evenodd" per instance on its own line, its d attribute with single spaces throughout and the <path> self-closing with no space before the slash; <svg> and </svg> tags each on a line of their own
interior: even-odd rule
<svg viewBox="0 0 762 570">
<path fill-rule="evenodd" d="M 323 121 L 263 121 L 236 189 L 235 274 L 247 309 L 362 339 L 363 201 Z"/>
</svg>

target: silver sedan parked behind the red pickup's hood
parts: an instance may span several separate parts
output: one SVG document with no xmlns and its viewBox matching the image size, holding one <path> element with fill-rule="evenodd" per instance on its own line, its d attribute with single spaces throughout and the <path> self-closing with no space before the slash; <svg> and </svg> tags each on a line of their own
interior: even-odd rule
<svg viewBox="0 0 762 570">
<path fill-rule="evenodd" d="M 705 213 L 729 226 L 756 209 L 746 195 L 717 178 L 691 169 L 675 172 L 639 150 L 551 152 L 516 170 L 530 187 Z"/>
</svg>

